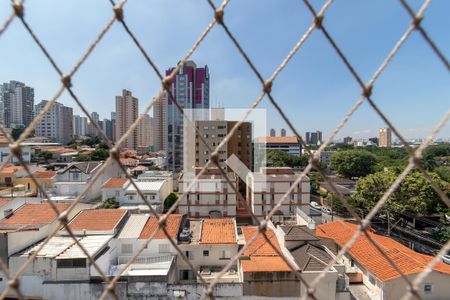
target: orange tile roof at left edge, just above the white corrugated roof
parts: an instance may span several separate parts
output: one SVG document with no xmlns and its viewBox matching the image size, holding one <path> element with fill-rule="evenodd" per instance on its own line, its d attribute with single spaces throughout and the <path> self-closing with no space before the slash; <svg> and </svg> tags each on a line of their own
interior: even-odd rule
<svg viewBox="0 0 450 300">
<path fill-rule="evenodd" d="M 59 212 L 63 212 L 69 204 L 55 204 Z M 17 209 L 14 214 L 0 222 L 0 227 L 21 227 L 46 225 L 56 220 L 57 215 L 50 204 L 25 204 Z M 4 228 L 6 229 L 6 228 Z"/>
</svg>

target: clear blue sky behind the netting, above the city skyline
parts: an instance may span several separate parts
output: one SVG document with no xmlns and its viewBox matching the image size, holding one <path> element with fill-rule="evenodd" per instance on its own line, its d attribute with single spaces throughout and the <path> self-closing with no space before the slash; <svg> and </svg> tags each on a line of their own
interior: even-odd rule
<svg viewBox="0 0 450 300">
<path fill-rule="evenodd" d="M 312 1 L 319 9 L 324 1 Z M 414 9 L 422 1 L 410 0 Z M 0 3 L 0 22 L 10 13 Z M 435 0 L 423 26 L 447 58 L 450 57 L 450 1 Z M 26 1 L 26 19 L 63 70 L 69 70 L 111 17 L 107 0 Z M 193 45 L 213 12 L 203 0 L 130 0 L 126 20 L 160 71 L 175 65 Z M 311 23 L 300 0 L 231 0 L 225 22 L 257 68 L 268 78 Z M 337 0 L 324 25 L 367 81 L 405 32 L 410 17 L 394 0 Z M 248 107 L 260 84 L 221 27 L 216 27 L 192 59 L 207 64 L 211 100 L 229 108 Z M 49 99 L 59 86 L 56 72 L 18 20 L 0 37 L 0 82 L 11 79 L 35 88 L 36 103 Z M 414 32 L 375 85 L 373 99 L 407 138 L 425 137 L 450 105 L 449 73 L 422 37 Z M 101 118 L 114 110 L 114 96 L 130 89 L 141 110 L 158 93 L 160 84 L 124 32 L 114 24 L 73 78 L 74 90 L 89 111 Z M 322 130 L 329 135 L 360 95 L 360 88 L 337 54 L 315 31 L 273 86 L 273 96 L 300 132 Z M 60 101 L 75 107 L 67 93 Z M 269 128 L 286 127 L 271 104 Z M 79 110 L 75 108 L 75 113 Z M 340 137 L 375 136 L 385 126 L 364 103 Z M 450 137 L 450 125 L 439 135 Z"/>
</svg>

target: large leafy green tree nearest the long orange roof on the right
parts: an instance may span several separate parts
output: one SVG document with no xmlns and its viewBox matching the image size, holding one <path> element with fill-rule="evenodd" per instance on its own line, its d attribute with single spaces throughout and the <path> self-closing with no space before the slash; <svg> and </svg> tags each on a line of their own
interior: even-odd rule
<svg viewBox="0 0 450 300">
<path fill-rule="evenodd" d="M 448 183 L 442 181 L 435 173 L 430 173 L 430 176 L 443 191 L 448 191 Z M 367 212 L 381 199 L 396 178 L 397 174 L 388 170 L 359 179 L 351 202 L 356 208 Z M 385 207 L 394 213 L 408 210 L 427 215 L 441 211 L 444 204 L 423 174 L 413 171 L 389 197 Z"/>
</svg>

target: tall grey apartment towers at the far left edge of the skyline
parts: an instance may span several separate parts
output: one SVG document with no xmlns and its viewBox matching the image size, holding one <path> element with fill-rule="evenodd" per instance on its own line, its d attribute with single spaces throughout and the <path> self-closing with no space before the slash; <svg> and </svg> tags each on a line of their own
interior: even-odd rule
<svg viewBox="0 0 450 300">
<path fill-rule="evenodd" d="M 26 127 L 33 121 L 34 89 L 25 83 L 11 80 L 0 84 L 0 102 L 5 127 Z"/>
</svg>

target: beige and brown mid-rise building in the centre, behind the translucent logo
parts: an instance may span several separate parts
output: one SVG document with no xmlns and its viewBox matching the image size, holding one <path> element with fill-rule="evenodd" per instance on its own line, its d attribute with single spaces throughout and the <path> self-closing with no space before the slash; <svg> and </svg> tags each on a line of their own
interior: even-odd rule
<svg viewBox="0 0 450 300">
<path fill-rule="evenodd" d="M 237 121 L 195 121 L 203 140 L 214 151 L 222 140 L 230 133 Z M 185 152 L 187 153 L 187 152 Z M 225 161 L 231 155 L 236 155 L 246 166 L 252 167 L 252 123 L 244 122 L 230 137 L 228 142 L 219 149 L 219 165 L 225 169 Z M 195 135 L 195 167 L 203 167 L 208 163 L 210 151 L 198 134 Z M 214 165 L 215 167 L 215 165 Z"/>
</svg>

